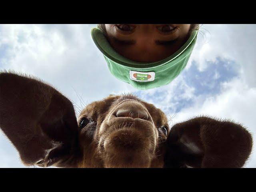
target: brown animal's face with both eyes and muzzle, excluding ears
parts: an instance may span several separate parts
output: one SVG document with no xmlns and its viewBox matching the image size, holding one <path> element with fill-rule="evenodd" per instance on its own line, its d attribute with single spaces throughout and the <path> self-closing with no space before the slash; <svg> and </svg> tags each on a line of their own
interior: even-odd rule
<svg viewBox="0 0 256 192">
<path fill-rule="evenodd" d="M 81 166 L 163 167 L 164 113 L 132 94 L 92 102 L 78 118 Z M 90 148 L 88 148 L 90 146 Z"/>
</svg>

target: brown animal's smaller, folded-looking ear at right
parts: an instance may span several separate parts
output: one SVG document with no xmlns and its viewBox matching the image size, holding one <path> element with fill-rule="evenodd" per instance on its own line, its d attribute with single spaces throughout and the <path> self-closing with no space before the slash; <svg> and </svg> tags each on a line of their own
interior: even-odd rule
<svg viewBox="0 0 256 192">
<path fill-rule="evenodd" d="M 241 125 L 199 117 L 171 128 L 164 167 L 240 168 L 251 150 L 252 136 Z"/>
</svg>

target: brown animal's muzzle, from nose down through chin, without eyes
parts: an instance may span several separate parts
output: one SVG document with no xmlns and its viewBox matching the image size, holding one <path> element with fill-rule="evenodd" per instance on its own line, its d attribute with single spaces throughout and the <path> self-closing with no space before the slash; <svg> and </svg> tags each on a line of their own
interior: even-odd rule
<svg viewBox="0 0 256 192">
<path fill-rule="evenodd" d="M 148 110 L 140 102 L 122 102 L 101 126 L 99 146 L 106 167 L 148 167 L 158 132 Z"/>
</svg>

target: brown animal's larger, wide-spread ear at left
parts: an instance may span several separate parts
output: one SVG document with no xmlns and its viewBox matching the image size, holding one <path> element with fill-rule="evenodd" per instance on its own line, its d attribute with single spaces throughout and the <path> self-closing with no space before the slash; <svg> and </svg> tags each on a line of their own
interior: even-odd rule
<svg viewBox="0 0 256 192">
<path fill-rule="evenodd" d="M 0 72 L 0 106 L 0 128 L 26 166 L 77 166 L 78 124 L 68 98 L 34 78 Z"/>
</svg>

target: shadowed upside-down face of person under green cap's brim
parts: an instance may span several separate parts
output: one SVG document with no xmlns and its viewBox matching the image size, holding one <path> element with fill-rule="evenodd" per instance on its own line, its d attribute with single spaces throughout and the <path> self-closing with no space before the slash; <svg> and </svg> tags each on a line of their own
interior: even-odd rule
<svg viewBox="0 0 256 192">
<path fill-rule="evenodd" d="M 122 56 L 140 62 L 160 61 L 189 38 L 190 24 L 105 24 L 111 46 Z"/>
</svg>

